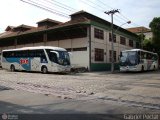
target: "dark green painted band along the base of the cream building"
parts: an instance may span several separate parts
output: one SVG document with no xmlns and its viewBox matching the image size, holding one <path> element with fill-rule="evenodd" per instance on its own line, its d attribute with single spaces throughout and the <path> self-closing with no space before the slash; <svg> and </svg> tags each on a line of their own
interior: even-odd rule
<svg viewBox="0 0 160 120">
<path fill-rule="evenodd" d="M 119 64 L 114 63 L 114 69 L 119 70 Z M 91 71 L 110 71 L 111 63 L 91 63 Z"/>
</svg>

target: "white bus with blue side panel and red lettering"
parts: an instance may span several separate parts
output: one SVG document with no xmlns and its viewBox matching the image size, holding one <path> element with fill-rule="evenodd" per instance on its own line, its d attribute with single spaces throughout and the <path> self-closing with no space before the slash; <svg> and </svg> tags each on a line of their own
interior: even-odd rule
<svg viewBox="0 0 160 120">
<path fill-rule="evenodd" d="M 24 47 L 2 51 L 2 68 L 11 71 L 69 72 L 68 52 L 51 46 Z"/>
</svg>

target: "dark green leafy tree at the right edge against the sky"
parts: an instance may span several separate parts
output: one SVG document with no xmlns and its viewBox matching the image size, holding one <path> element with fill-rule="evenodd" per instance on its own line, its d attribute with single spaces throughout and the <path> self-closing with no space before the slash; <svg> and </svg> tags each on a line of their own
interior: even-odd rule
<svg viewBox="0 0 160 120">
<path fill-rule="evenodd" d="M 160 46 L 160 17 L 155 17 L 149 24 L 153 32 L 153 44 L 156 47 Z"/>
</svg>

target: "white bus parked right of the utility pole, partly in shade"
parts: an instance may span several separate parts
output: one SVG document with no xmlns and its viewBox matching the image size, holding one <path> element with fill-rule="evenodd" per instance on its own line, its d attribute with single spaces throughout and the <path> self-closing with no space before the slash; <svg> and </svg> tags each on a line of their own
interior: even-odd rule
<svg viewBox="0 0 160 120">
<path fill-rule="evenodd" d="M 120 53 L 120 71 L 146 71 L 158 69 L 158 54 L 142 49 Z"/>
</svg>

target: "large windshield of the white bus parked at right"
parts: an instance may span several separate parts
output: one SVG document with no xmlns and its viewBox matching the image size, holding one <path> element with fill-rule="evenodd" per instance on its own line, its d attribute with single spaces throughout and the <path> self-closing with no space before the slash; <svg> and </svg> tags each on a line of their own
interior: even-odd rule
<svg viewBox="0 0 160 120">
<path fill-rule="evenodd" d="M 120 65 L 121 66 L 132 66 L 138 64 L 138 55 L 136 51 L 125 51 L 121 52 Z"/>
</svg>

